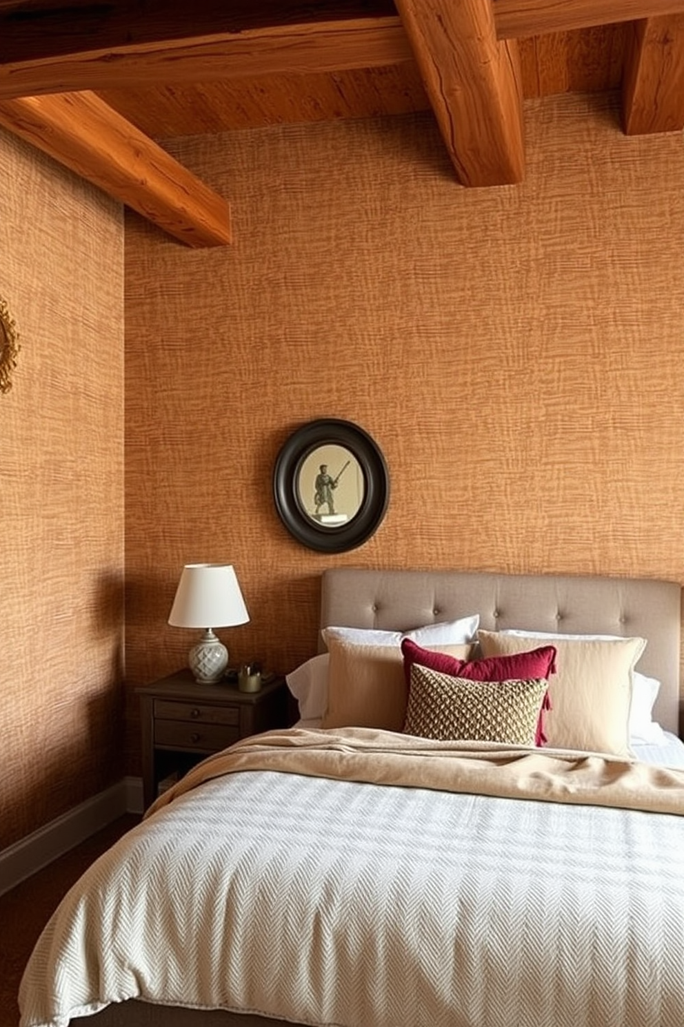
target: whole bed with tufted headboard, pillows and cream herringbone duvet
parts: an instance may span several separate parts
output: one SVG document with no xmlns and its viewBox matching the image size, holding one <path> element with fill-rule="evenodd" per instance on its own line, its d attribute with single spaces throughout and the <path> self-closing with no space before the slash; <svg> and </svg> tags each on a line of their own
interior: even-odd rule
<svg viewBox="0 0 684 1027">
<path fill-rule="evenodd" d="M 291 676 L 310 716 L 205 761 L 86 872 L 29 962 L 22 1027 L 681 1027 L 680 605 L 673 582 L 326 571 L 320 651 Z M 473 616 L 480 641 L 440 640 Z M 407 735 L 376 707 L 337 725 L 356 694 L 340 673 L 370 657 L 332 629 L 412 634 L 400 719 L 416 682 L 472 693 L 451 659 L 551 647 L 557 672 L 617 660 L 632 702 L 638 673 L 646 723 L 634 735 L 630 707 L 627 754 Z M 376 643 L 396 688 L 396 646 Z M 541 680 L 520 692 L 535 731 Z"/>
</svg>

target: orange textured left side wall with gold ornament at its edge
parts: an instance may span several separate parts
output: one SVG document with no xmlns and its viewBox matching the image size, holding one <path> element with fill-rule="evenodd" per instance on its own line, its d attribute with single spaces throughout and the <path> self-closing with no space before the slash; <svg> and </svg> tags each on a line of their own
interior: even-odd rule
<svg viewBox="0 0 684 1027">
<path fill-rule="evenodd" d="M 119 781 L 121 208 L 0 131 L 0 849 Z"/>
</svg>

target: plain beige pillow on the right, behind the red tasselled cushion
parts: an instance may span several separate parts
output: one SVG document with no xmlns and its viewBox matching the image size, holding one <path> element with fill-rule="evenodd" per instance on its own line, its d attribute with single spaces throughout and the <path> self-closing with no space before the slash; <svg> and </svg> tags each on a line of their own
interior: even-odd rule
<svg viewBox="0 0 684 1027">
<path fill-rule="evenodd" d="M 478 632 L 484 656 L 534 648 L 534 640 L 498 632 Z M 641 638 L 598 640 L 545 636 L 557 651 L 549 678 L 551 710 L 545 714 L 547 745 L 557 749 L 630 753 L 632 672 L 646 647 Z"/>
</svg>

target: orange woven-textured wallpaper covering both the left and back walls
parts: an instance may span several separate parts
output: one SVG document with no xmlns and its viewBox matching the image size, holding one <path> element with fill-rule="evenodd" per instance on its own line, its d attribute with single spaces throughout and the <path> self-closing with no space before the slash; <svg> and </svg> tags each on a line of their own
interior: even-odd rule
<svg viewBox="0 0 684 1027">
<path fill-rule="evenodd" d="M 453 183 L 429 116 L 170 147 L 234 203 L 235 245 L 126 232 L 129 718 L 120 757 L 120 211 L 0 134 L 0 295 L 23 349 L 0 395 L 0 848 L 139 769 L 135 684 L 185 661 L 183 563 L 235 563 L 235 658 L 316 644 L 332 564 L 684 580 L 684 153 L 610 102 L 526 106 L 523 186 Z M 287 534 L 289 432 L 381 445 L 387 519 L 325 557 Z"/>
</svg>

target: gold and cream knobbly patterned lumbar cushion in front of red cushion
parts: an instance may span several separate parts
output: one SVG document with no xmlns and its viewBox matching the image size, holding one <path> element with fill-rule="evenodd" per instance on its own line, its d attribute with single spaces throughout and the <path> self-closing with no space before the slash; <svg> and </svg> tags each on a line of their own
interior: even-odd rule
<svg viewBox="0 0 684 1027">
<path fill-rule="evenodd" d="M 549 682 L 471 681 L 413 663 L 405 734 L 533 746 Z"/>
</svg>

